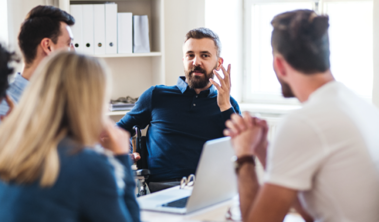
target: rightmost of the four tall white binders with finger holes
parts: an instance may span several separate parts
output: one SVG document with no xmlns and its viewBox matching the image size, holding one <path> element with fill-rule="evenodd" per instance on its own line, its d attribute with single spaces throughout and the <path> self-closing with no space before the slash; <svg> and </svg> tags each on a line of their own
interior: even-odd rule
<svg viewBox="0 0 379 222">
<path fill-rule="evenodd" d="M 117 53 L 117 4 L 105 4 L 105 53 Z"/>
</svg>

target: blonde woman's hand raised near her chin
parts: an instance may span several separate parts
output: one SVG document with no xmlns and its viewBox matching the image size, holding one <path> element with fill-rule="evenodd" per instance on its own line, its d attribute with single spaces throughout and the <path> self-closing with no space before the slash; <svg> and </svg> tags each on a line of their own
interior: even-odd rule
<svg viewBox="0 0 379 222">
<path fill-rule="evenodd" d="M 115 155 L 123 155 L 128 154 L 130 151 L 129 139 L 129 132 L 114 126 L 114 123 L 111 121 L 107 121 L 104 131 L 100 136 L 100 143 L 104 148 L 111 150 Z"/>
</svg>

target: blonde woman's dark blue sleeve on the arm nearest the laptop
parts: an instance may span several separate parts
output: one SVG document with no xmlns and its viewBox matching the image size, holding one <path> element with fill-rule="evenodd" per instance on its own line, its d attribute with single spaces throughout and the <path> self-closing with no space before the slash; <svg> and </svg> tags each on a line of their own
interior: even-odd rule
<svg viewBox="0 0 379 222">
<path fill-rule="evenodd" d="M 125 167 L 125 193 L 117 185 L 114 167 L 107 157 L 94 157 L 83 165 L 79 190 L 80 217 L 91 222 L 139 222 L 137 203 L 131 195 L 135 186 L 130 182 L 133 180 L 128 171 L 130 165 Z"/>
</svg>

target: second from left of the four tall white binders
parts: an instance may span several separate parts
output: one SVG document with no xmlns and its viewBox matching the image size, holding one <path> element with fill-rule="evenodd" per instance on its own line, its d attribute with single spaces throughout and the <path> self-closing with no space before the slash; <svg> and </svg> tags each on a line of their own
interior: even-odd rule
<svg viewBox="0 0 379 222">
<path fill-rule="evenodd" d="M 93 4 L 83 4 L 83 53 L 94 54 Z"/>
</svg>

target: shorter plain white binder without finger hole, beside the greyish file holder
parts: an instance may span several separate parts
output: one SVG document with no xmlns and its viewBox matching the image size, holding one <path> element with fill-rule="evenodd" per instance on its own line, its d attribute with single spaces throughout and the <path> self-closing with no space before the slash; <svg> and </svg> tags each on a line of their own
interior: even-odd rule
<svg viewBox="0 0 379 222">
<path fill-rule="evenodd" d="M 133 53 L 133 14 L 117 13 L 118 53 Z"/>
</svg>

